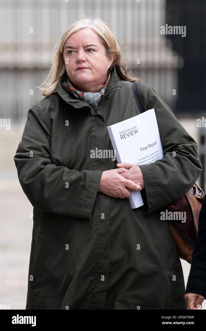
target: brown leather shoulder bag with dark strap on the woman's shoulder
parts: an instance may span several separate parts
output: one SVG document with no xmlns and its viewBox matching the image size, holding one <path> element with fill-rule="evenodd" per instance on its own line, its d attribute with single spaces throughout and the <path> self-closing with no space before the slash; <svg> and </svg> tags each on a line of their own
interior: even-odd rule
<svg viewBox="0 0 206 331">
<path fill-rule="evenodd" d="M 132 91 L 140 113 L 146 111 L 140 80 L 135 81 L 132 85 Z M 168 212 L 177 215 L 177 220 L 168 220 L 169 228 L 176 242 L 177 251 L 181 259 L 191 263 L 192 252 L 197 243 L 197 231 L 199 213 L 204 200 L 203 190 L 194 183 L 192 188 L 177 202 L 166 206 Z M 174 212 L 186 212 L 186 221 L 182 222 L 181 215 Z M 174 217 L 172 217 L 174 218 Z M 176 218 L 176 217 L 175 217 Z"/>
</svg>

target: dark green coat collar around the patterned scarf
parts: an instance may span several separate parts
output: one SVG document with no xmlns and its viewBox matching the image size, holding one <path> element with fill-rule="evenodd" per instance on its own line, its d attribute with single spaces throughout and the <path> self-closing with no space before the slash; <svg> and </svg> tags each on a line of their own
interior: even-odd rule
<svg viewBox="0 0 206 331">
<path fill-rule="evenodd" d="M 77 99 L 73 98 L 70 95 L 70 93 L 68 93 L 64 90 L 64 88 L 62 87 L 62 81 L 63 81 L 63 78 L 60 78 L 58 83 L 57 83 L 57 86 L 56 86 L 57 93 L 61 96 L 61 98 L 66 103 L 70 103 L 75 108 L 85 107 L 85 102 L 82 102 L 81 100 L 77 100 Z M 111 70 L 111 78 L 110 78 L 109 83 L 106 87 L 106 91 L 105 91 L 106 93 L 105 94 L 107 94 L 108 92 L 110 92 L 114 88 L 118 88 L 118 87 L 121 87 L 121 84 L 119 82 L 119 78 L 118 78 L 117 73 L 116 73 L 116 68 L 113 67 L 112 70 Z M 109 97 L 110 97 L 110 93 L 105 95 L 104 99 L 107 99 Z M 88 106 L 90 106 L 90 104 L 88 104 Z"/>
</svg>

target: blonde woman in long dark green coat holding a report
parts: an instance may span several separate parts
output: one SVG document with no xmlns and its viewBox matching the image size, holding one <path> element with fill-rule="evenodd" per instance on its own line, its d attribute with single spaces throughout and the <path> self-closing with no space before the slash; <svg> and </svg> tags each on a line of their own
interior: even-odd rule
<svg viewBox="0 0 206 331">
<path fill-rule="evenodd" d="M 101 19 L 84 18 L 63 33 L 14 157 L 33 206 L 26 309 L 187 309 L 160 209 L 199 177 L 196 142 L 141 83 L 164 158 L 137 166 L 91 157 L 112 151 L 107 126 L 139 114 L 131 89 L 137 79 Z M 128 199 L 134 190 L 144 201 L 137 209 Z"/>
</svg>

